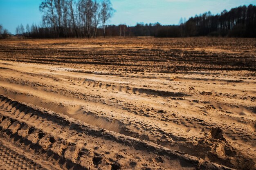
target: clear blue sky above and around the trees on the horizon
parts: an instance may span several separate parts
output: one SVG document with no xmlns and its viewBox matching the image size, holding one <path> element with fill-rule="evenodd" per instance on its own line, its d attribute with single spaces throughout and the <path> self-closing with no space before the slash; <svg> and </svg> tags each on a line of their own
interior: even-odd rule
<svg viewBox="0 0 256 170">
<path fill-rule="evenodd" d="M 0 0 L 0 24 L 15 33 L 16 26 L 39 24 L 41 0 Z M 116 10 L 108 24 L 155 23 L 179 24 L 180 18 L 211 11 L 221 13 L 224 9 L 240 5 L 256 5 L 256 0 L 111 0 Z"/>
</svg>

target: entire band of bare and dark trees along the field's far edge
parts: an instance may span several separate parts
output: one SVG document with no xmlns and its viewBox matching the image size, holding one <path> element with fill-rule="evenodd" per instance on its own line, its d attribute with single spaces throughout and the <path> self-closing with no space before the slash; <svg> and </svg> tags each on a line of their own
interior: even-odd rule
<svg viewBox="0 0 256 170">
<path fill-rule="evenodd" d="M 256 6 L 240 6 L 181 19 L 179 25 L 106 25 L 115 10 L 110 0 L 42 0 L 40 25 L 21 24 L 16 34 L 25 38 L 96 38 L 98 36 L 153 36 L 161 38 L 228 36 L 256 38 Z"/>
</svg>

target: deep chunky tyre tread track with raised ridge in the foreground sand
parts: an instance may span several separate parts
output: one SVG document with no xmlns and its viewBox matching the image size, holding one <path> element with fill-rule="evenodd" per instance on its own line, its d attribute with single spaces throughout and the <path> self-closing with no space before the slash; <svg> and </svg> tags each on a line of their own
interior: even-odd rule
<svg viewBox="0 0 256 170">
<path fill-rule="evenodd" d="M 117 152 L 117 148 L 122 148 L 121 150 L 126 148 L 125 157 L 132 158 L 135 153 L 137 156 L 142 154 L 144 156 L 141 155 L 141 158 L 145 159 L 141 159 L 141 161 L 147 162 L 148 165 L 151 165 L 150 167 L 161 165 L 162 161 L 146 161 L 147 157 L 156 154 L 161 155 L 161 160 L 168 161 L 168 165 L 174 163 L 181 169 L 187 169 L 188 166 L 190 169 L 225 168 L 196 157 L 182 155 L 150 142 L 95 128 L 43 108 L 14 101 L 3 95 L 0 95 L 0 133 L 2 137 L 13 141 L 18 147 L 23 149 L 29 147 L 31 152 L 41 155 L 45 161 L 50 161 L 62 169 L 96 169 L 101 165 L 107 166 L 102 160 L 109 161 L 113 158 L 108 159 L 106 153 L 102 155 L 101 149 L 107 151 L 106 148 L 109 146 L 106 141 L 108 140 L 115 148 L 115 150 L 109 150 L 111 151 L 110 157 L 114 154 L 113 152 Z M 87 145 L 94 145 L 94 147 L 87 147 Z M 101 149 L 96 147 L 97 145 L 101 146 Z M 127 150 L 128 148 L 129 150 Z M 152 152 L 155 154 L 152 155 Z M 120 154 L 122 155 L 121 152 L 115 153 L 115 155 Z M 119 159 L 124 159 L 124 156 Z M 160 158 L 157 157 L 155 160 L 158 159 Z M 118 160 L 109 162 L 109 165 L 115 167 L 118 163 L 123 166 L 120 162 Z"/>
</svg>

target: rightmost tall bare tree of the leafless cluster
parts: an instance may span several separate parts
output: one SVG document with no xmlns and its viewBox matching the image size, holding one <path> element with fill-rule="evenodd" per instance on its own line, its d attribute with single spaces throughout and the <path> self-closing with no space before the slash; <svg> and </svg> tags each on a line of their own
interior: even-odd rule
<svg viewBox="0 0 256 170">
<path fill-rule="evenodd" d="M 103 37 L 106 36 L 106 22 L 112 17 L 114 9 L 110 0 L 102 0 L 101 2 L 101 22 L 103 24 Z"/>
</svg>

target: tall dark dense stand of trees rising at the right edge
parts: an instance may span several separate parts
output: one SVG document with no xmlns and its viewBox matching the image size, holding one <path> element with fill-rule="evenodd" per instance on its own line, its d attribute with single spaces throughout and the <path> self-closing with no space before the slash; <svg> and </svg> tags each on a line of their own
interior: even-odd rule
<svg viewBox="0 0 256 170">
<path fill-rule="evenodd" d="M 244 5 L 218 15 L 196 15 L 185 23 L 186 27 L 186 36 L 256 37 L 256 6 Z"/>
</svg>

